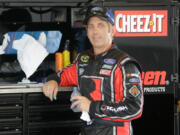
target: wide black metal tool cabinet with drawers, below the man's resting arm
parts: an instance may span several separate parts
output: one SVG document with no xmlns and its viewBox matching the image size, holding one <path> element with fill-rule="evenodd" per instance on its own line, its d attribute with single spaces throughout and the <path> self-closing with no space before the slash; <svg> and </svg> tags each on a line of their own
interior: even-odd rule
<svg viewBox="0 0 180 135">
<path fill-rule="evenodd" d="M 57 101 L 51 102 L 40 88 L 24 93 L 20 93 L 22 88 L 18 93 L 3 90 L 0 89 L 0 135 L 72 135 L 81 131 L 84 123 L 80 114 L 70 109 L 71 91 L 59 92 Z"/>
</svg>

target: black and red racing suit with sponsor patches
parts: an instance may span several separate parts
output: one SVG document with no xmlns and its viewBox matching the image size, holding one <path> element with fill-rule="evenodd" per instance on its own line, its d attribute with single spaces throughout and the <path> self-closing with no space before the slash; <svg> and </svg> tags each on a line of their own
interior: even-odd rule
<svg viewBox="0 0 180 135">
<path fill-rule="evenodd" d="M 84 135 L 132 135 L 131 120 L 142 115 L 143 91 L 139 64 L 113 45 L 94 56 L 91 51 L 78 55 L 76 61 L 57 76 L 59 86 L 78 86 L 91 100 L 93 123 Z"/>
</svg>

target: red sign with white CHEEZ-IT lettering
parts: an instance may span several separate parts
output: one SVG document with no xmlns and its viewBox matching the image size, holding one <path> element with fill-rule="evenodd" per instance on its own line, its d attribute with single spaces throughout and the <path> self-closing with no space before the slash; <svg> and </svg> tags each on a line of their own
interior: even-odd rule
<svg viewBox="0 0 180 135">
<path fill-rule="evenodd" d="M 167 10 L 117 10 L 116 37 L 168 36 Z"/>
</svg>

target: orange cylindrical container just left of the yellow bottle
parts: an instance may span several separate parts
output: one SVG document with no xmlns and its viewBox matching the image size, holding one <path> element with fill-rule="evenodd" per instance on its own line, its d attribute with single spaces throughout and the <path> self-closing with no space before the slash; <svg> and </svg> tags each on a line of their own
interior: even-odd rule
<svg viewBox="0 0 180 135">
<path fill-rule="evenodd" d="M 63 68 L 63 54 L 60 52 L 56 53 L 55 56 L 55 65 L 56 65 L 56 72 L 59 72 Z"/>
</svg>

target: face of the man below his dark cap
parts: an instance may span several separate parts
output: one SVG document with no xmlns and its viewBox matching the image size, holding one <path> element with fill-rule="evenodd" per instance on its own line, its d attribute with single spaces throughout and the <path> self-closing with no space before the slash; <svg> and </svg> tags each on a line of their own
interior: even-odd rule
<svg viewBox="0 0 180 135">
<path fill-rule="evenodd" d="M 108 22 L 98 17 L 91 17 L 88 20 L 87 36 L 94 49 L 110 46 L 113 34 L 113 27 Z"/>
</svg>

